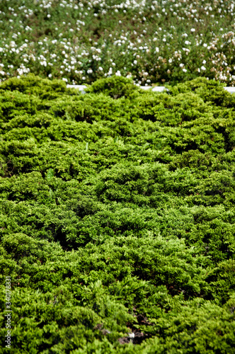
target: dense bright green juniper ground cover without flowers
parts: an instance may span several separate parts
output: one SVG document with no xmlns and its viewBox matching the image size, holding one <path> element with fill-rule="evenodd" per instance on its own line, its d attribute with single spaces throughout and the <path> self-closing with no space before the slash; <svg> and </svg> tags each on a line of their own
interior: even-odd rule
<svg viewBox="0 0 235 354">
<path fill-rule="evenodd" d="M 0 86 L 1 353 L 235 352 L 235 96 Z"/>
</svg>

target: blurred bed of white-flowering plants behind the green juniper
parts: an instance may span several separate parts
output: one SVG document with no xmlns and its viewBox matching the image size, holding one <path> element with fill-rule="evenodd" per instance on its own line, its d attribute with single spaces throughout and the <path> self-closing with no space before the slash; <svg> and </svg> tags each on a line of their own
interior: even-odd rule
<svg viewBox="0 0 235 354">
<path fill-rule="evenodd" d="M 0 80 L 32 72 L 89 84 L 117 74 L 136 84 L 198 76 L 234 86 L 234 0 L 5 0 Z"/>
</svg>

